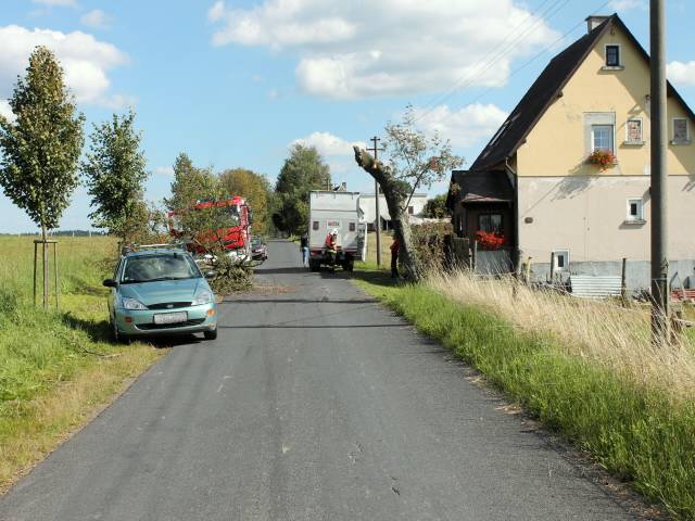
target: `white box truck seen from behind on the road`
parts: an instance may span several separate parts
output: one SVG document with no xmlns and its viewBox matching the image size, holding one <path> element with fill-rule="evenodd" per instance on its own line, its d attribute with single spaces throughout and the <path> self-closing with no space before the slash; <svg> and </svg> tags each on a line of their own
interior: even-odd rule
<svg viewBox="0 0 695 521">
<path fill-rule="evenodd" d="M 326 239 L 332 230 L 338 230 L 336 265 L 352 271 L 354 262 L 363 259 L 367 237 L 359 192 L 315 190 L 309 193 L 308 266 L 312 271 L 328 264 Z"/>
</svg>

